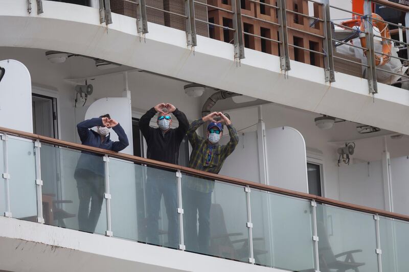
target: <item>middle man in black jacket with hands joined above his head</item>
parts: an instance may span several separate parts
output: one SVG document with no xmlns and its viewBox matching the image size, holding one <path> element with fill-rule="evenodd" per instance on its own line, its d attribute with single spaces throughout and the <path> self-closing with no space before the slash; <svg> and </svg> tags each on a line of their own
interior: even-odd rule
<svg viewBox="0 0 409 272">
<path fill-rule="evenodd" d="M 158 113 L 158 128 L 149 126 L 149 122 Z M 179 122 L 176 129 L 170 128 L 173 114 Z M 172 104 L 161 103 L 148 110 L 139 120 L 139 128 L 145 137 L 148 149 L 147 158 L 177 164 L 179 146 L 189 128 L 186 115 Z M 175 173 L 153 167 L 147 168 L 147 238 L 149 243 L 159 244 L 158 219 L 162 195 L 168 217 L 168 246 L 178 248 L 179 229 L 177 216 L 177 191 Z"/>
</svg>

